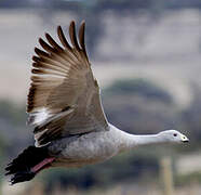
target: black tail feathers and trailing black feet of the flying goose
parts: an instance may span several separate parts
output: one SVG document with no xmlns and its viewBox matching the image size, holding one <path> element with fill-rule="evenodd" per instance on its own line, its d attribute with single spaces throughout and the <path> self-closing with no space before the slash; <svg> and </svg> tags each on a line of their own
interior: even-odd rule
<svg viewBox="0 0 201 195">
<path fill-rule="evenodd" d="M 29 146 L 5 167 L 5 176 L 12 174 L 11 184 L 30 181 L 36 176 L 31 168 L 46 157 L 46 147 Z"/>
</svg>

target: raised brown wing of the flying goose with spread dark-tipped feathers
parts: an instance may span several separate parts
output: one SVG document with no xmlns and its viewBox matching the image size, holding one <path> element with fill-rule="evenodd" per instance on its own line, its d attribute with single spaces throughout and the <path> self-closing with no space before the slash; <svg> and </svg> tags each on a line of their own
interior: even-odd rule
<svg viewBox="0 0 201 195">
<path fill-rule="evenodd" d="M 75 22 L 71 22 L 71 46 L 58 26 L 57 35 L 63 47 L 45 34 L 49 43 L 39 39 L 44 51 L 35 49 L 37 56 L 32 57 L 27 113 L 28 123 L 36 126 L 34 133 L 38 145 L 63 136 L 108 129 L 99 88 L 85 51 L 84 26 L 82 22 L 79 42 Z"/>
</svg>

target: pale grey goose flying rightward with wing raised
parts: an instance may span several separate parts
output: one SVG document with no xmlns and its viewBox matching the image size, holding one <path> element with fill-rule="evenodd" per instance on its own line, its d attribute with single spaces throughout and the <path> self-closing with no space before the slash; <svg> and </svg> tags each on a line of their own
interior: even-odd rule
<svg viewBox="0 0 201 195">
<path fill-rule="evenodd" d="M 129 134 L 109 123 L 99 88 L 93 76 L 84 44 L 84 22 L 77 40 L 70 23 L 68 43 L 61 26 L 62 47 L 45 34 L 36 48 L 28 94 L 28 123 L 35 126 L 36 146 L 27 147 L 5 168 L 11 184 L 31 180 L 51 167 L 82 167 L 104 161 L 137 145 L 188 142 L 176 130 L 158 134 Z"/>
</svg>

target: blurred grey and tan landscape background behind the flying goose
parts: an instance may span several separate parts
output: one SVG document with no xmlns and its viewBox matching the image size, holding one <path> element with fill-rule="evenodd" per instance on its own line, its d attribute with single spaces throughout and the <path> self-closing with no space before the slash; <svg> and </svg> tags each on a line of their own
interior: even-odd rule
<svg viewBox="0 0 201 195">
<path fill-rule="evenodd" d="M 26 95 L 38 38 L 86 23 L 86 48 L 111 123 L 131 133 L 178 129 L 190 144 L 149 146 L 9 186 L 3 168 L 28 144 Z M 200 0 L 0 0 L 0 194 L 200 195 Z"/>
</svg>

